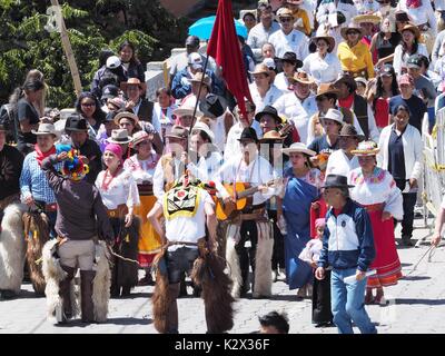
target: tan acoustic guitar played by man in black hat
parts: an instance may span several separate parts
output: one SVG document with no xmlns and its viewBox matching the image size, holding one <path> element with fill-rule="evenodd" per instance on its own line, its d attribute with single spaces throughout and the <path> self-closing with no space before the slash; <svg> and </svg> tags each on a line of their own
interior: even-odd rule
<svg viewBox="0 0 445 356">
<path fill-rule="evenodd" d="M 261 186 L 271 187 L 277 184 L 277 180 L 280 181 L 280 179 L 273 179 Z M 259 190 L 259 187 L 251 187 L 248 182 L 225 184 L 222 186 L 235 200 L 227 204 L 224 202 L 222 198 L 216 200 L 216 217 L 222 221 L 233 218 L 235 214 L 251 205 L 253 195 Z"/>
</svg>

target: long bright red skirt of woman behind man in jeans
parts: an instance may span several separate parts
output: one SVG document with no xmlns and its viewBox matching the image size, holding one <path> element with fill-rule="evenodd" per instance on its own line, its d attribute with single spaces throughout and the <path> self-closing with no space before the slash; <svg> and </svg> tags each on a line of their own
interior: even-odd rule
<svg viewBox="0 0 445 356">
<path fill-rule="evenodd" d="M 368 211 L 376 249 L 376 258 L 370 269 L 377 270 L 376 275 L 368 277 L 368 288 L 396 285 L 403 276 L 394 236 L 394 220 L 382 221 L 382 210 Z"/>
</svg>

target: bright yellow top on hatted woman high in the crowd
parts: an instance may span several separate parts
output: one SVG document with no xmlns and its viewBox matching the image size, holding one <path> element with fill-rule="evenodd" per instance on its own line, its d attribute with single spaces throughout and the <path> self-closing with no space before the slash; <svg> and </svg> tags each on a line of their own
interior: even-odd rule
<svg viewBox="0 0 445 356">
<path fill-rule="evenodd" d="M 358 41 L 356 46 L 349 48 L 346 42 L 338 44 L 337 56 L 342 63 L 344 71 L 359 71 L 366 69 L 368 79 L 374 78 L 374 65 L 373 58 L 370 57 L 369 48 Z"/>
</svg>

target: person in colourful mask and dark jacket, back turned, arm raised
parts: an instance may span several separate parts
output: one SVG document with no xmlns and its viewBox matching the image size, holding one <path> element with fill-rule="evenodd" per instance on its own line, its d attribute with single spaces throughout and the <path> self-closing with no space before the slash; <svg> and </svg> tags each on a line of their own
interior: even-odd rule
<svg viewBox="0 0 445 356">
<path fill-rule="evenodd" d="M 55 169 L 55 165 L 61 161 L 63 176 Z M 115 239 L 107 209 L 96 186 L 83 179 L 88 169 L 85 168 L 81 157 L 70 158 L 67 151 L 51 155 L 43 159 L 42 169 L 57 199 L 56 231 L 60 239 L 58 255 L 60 267 L 67 273 L 66 278 L 59 283 L 63 306 L 61 322 L 73 316 L 70 285 L 79 267 L 82 322 L 95 323 L 98 320 L 95 313 L 98 300 L 92 299 L 96 276 L 95 243 L 101 237 L 112 245 Z"/>
</svg>

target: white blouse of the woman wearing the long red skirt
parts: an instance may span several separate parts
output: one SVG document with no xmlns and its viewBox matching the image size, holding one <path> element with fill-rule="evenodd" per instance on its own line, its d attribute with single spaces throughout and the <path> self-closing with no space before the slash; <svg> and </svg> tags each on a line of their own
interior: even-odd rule
<svg viewBox="0 0 445 356">
<path fill-rule="evenodd" d="M 374 171 L 373 177 L 365 179 L 362 168 L 356 168 L 349 172 L 348 184 L 354 186 L 349 189 L 353 200 L 360 205 L 384 202 L 384 211 L 388 211 L 394 218 L 402 220 L 404 215 L 402 191 L 387 170 L 378 168 Z"/>
</svg>

